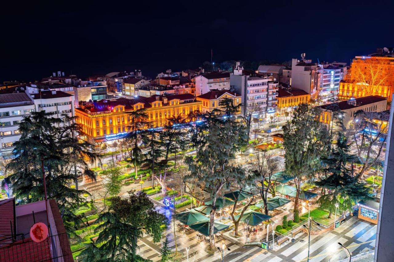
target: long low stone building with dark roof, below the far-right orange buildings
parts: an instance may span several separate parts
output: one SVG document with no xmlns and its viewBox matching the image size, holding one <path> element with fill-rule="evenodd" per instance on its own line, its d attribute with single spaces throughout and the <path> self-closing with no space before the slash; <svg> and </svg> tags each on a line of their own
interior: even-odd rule
<svg viewBox="0 0 394 262">
<path fill-rule="evenodd" d="M 362 98 L 349 99 L 336 104 L 341 111 L 340 114 L 342 114 L 343 117 L 343 124 L 346 128 L 349 128 L 349 125 L 356 121 L 354 113 L 359 110 L 364 110 L 365 112 L 385 111 L 387 107 L 387 98 L 381 96 L 366 96 Z M 331 106 L 332 104 L 320 106 L 320 108 L 323 109 L 320 116 L 320 122 L 327 124 L 330 130 L 335 130 L 339 127 L 336 127 L 335 121 L 333 121 L 334 111 L 331 110 Z"/>
</svg>

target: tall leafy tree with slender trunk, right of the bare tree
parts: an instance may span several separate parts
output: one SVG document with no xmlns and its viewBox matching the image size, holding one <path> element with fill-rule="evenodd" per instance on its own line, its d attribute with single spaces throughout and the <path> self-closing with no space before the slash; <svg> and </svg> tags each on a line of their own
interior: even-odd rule
<svg viewBox="0 0 394 262">
<path fill-rule="evenodd" d="M 319 121 L 321 111 L 318 107 L 300 104 L 293 119 L 283 126 L 286 174 L 295 177 L 297 188 L 294 211 L 298 210 L 301 181 L 315 175 L 320 168 L 320 158 L 330 147 L 328 130 Z"/>
</svg>

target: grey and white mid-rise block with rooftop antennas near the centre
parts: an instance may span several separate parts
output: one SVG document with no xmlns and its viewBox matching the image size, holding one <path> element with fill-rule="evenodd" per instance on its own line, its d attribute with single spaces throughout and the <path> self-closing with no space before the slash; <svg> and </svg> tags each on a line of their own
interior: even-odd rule
<svg viewBox="0 0 394 262">
<path fill-rule="evenodd" d="M 278 82 L 257 74 L 251 70 L 243 70 L 237 62 L 230 75 L 231 90 L 242 96 L 242 114 L 249 111 L 255 118 L 268 118 L 275 114 Z"/>
</svg>

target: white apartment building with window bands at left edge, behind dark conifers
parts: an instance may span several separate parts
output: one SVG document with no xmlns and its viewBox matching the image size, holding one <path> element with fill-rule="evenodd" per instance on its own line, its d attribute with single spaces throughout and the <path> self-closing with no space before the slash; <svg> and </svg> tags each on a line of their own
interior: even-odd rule
<svg viewBox="0 0 394 262">
<path fill-rule="evenodd" d="M 13 143 L 20 138 L 19 123 L 32 112 L 45 110 L 52 117 L 74 116 L 74 96 L 63 91 L 30 89 L 0 94 L 0 156 L 11 155 Z M 41 92 L 40 92 L 41 91 Z"/>
</svg>

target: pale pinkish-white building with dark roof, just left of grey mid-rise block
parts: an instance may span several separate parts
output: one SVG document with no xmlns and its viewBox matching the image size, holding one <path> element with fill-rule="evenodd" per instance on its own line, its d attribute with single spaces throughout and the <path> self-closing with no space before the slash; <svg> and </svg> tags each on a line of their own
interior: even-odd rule
<svg viewBox="0 0 394 262">
<path fill-rule="evenodd" d="M 195 77 L 196 96 L 200 96 L 212 89 L 229 90 L 230 72 L 204 73 Z"/>
</svg>

